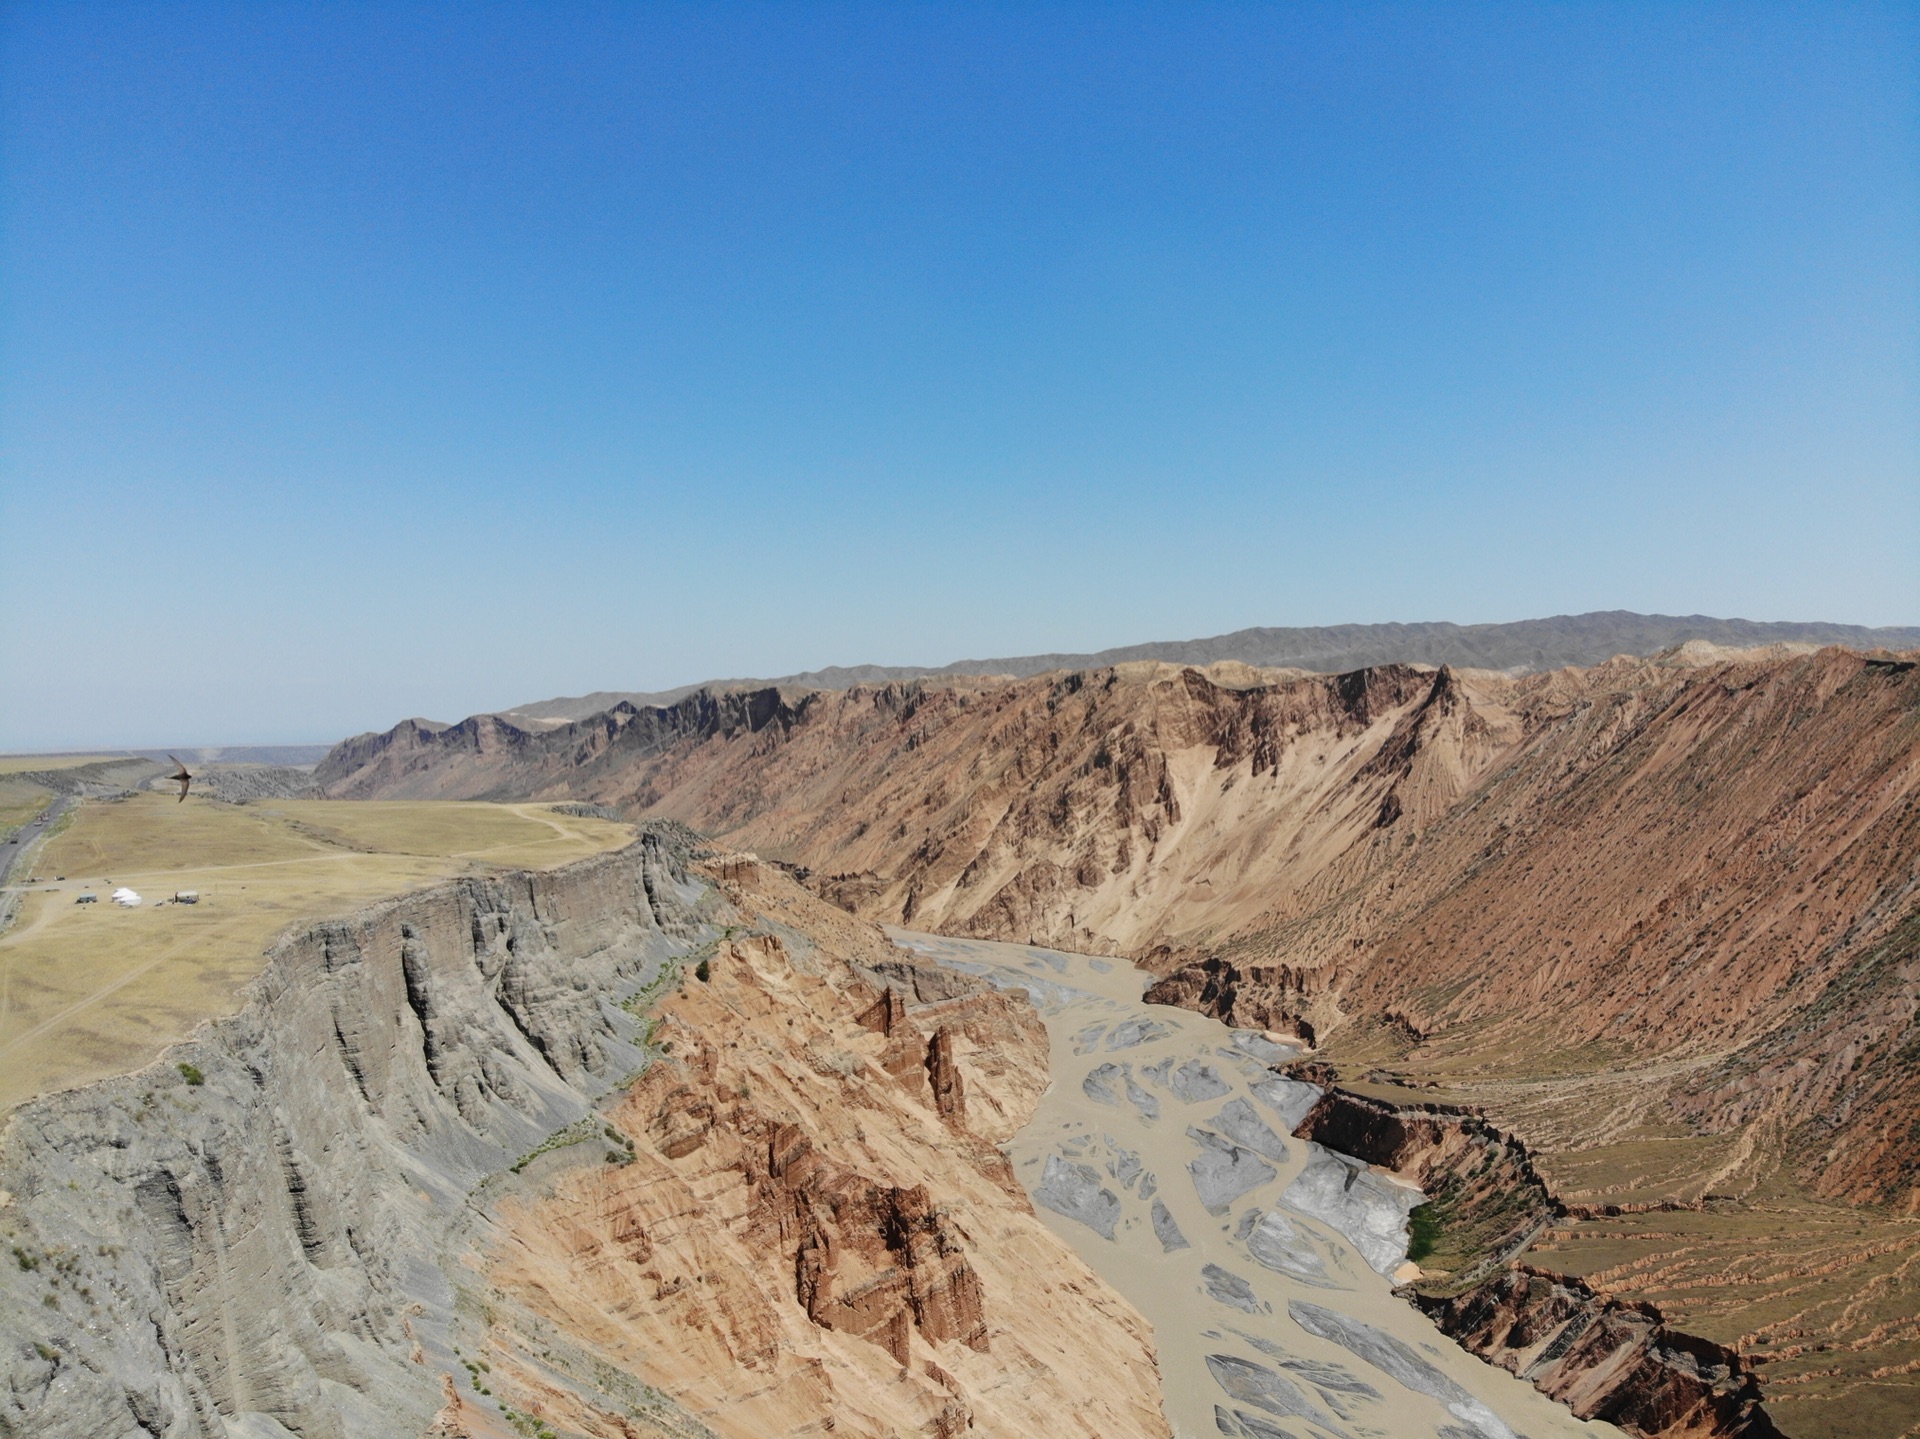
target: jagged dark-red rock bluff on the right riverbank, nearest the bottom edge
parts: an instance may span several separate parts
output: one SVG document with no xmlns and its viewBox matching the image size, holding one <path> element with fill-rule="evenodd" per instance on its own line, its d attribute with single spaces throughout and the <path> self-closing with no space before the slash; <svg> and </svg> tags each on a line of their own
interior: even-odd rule
<svg viewBox="0 0 1920 1439">
<path fill-rule="evenodd" d="M 1582 1420 L 1649 1439 L 1780 1439 L 1741 1356 L 1668 1329 L 1653 1305 L 1524 1264 L 1467 1293 L 1415 1303 L 1444 1333 Z"/>
</svg>

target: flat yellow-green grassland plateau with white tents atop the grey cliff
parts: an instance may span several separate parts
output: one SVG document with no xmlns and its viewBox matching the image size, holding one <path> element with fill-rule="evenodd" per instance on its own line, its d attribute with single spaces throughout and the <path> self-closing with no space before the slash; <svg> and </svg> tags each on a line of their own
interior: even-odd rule
<svg viewBox="0 0 1920 1439">
<path fill-rule="evenodd" d="M 296 922 L 455 874 L 553 868 L 632 838 L 626 824 L 547 805 L 84 801 L 35 857 L 35 874 L 65 878 L 31 886 L 0 936 L 0 1112 L 138 1068 L 200 1020 L 234 1012 Z M 146 903 L 113 905 L 119 886 Z M 180 890 L 200 903 L 157 903 Z"/>
</svg>

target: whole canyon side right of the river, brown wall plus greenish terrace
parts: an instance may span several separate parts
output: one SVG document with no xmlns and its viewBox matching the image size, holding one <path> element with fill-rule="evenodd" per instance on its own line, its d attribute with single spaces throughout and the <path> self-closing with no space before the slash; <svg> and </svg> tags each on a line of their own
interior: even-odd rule
<svg viewBox="0 0 1920 1439">
<path fill-rule="evenodd" d="M 1655 1305 L 1837 1439 L 1920 1424 L 1916 671 L 1682 646 L 701 692 L 409 722 L 317 780 L 672 817 L 862 918 L 1123 955 L 1515 1135 L 1567 1210 L 1517 1260 Z"/>
</svg>

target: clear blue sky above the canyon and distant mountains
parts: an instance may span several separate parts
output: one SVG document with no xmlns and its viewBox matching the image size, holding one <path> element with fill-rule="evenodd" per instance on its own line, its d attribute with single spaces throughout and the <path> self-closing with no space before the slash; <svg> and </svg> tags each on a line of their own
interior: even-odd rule
<svg viewBox="0 0 1920 1439">
<path fill-rule="evenodd" d="M 1920 12 L 0 12 L 0 749 L 1920 622 Z"/>
</svg>

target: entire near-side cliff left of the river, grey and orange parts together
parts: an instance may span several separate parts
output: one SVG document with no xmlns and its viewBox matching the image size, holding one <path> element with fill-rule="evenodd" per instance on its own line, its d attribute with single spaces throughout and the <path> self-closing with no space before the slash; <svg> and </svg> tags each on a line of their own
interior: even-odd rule
<svg viewBox="0 0 1920 1439">
<path fill-rule="evenodd" d="M 735 911 L 660 834 L 438 886 L 290 936 L 165 1062 L 15 1110 L 0 1433 L 958 1433 L 1087 1406 L 1081 1345 L 1106 1431 L 1164 1433 L 1139 1322 L 991 1143 L 1044 1084 L 1031 1016 L 902 995 L 876 1034 L 854 957 L 899 951 L 789 899 Z M 662 1061 L 620 1001 L 724 926 Z M 1020 1401 L 975 1393 L 1008 1364 Z"/>
</svg>

